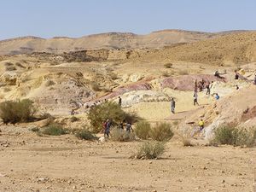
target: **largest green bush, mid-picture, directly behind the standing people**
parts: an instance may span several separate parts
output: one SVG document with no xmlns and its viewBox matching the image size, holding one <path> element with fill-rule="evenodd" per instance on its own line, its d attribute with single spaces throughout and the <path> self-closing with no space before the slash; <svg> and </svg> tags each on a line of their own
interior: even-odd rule
<svg viewBox="0 0 256 192">
<path fill-rule="evenodd" d="M 125 113 L 125 111 L 116 102 L 103 102 L 90 108 L 88 113 L 91 129 L 93 132 L 102 131 L 102 121 L 111 119 L 112 125 L 119 125 L 119 122 L 131 120 L 131 123 L 137 120 L 137 115 Z M 130 122 L 130 121 L 129 121 Z"/>
</svg>

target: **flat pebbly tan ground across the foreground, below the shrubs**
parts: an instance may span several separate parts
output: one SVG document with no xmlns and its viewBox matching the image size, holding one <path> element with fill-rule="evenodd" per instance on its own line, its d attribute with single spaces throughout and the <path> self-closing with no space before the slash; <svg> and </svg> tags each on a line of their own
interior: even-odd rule
<svg viewBox="0 0 256 192">
<path fill-rule="evenodd" d="M 159 160 L 134 160 L 142 142 L 38 137 L 19 125 L 0 129 L 0 191 L 253 192 L 255 148 L 189 148 L 172 138 Z"/>
</svg>

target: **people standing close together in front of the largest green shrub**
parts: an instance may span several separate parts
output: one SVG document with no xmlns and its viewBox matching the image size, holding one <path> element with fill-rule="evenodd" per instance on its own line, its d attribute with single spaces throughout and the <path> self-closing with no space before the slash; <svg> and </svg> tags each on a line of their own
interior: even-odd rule
<svg viewBox="0 0 256 192">
<path fill-rule="evenodd" d="M 110 135 L 110 128 L 111 128 L 112 122 L 110 119 L 107 119 L 106 121 L 102 121 L 102 132 L 104 133 L 104 137 L 109 137 Z M 125 130 L 127 132 L 131 132 L 133 131 L 132 127 L 131 127 L 131 123 L 130 122 L 125 122 L 122 121 L 118 126 L 118 129 L 120 130 Z"/>
</svg>

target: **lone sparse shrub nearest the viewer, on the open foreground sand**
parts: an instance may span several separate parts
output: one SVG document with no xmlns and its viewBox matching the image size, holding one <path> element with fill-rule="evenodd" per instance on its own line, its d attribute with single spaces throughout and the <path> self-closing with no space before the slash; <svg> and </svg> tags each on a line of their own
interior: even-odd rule
<svg viewBox="0 0 256 192">
<path fill-rule="evenodd" d="M 145 142 L 137 148 L 137 159 L 156 159 L 165 152 L 165 143 L 163 142 Z"/>
</svg>

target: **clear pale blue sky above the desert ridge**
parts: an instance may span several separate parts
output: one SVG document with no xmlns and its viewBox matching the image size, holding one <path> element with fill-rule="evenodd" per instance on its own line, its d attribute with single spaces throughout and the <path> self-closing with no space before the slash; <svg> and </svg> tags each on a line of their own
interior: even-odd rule
<svg viewBox="0 0 256 192">
<path fill-rule="evenodd" d="M 0 39 L 256 29 L 256 0 L 1 0 Z"/>
</svg>

